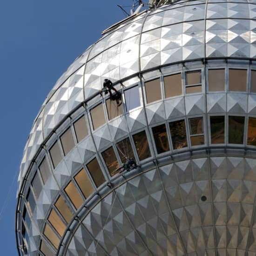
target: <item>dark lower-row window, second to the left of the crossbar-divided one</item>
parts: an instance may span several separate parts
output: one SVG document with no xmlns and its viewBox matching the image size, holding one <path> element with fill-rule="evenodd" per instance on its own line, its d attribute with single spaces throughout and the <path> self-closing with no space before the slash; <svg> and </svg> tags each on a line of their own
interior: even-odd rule
<svg viewBox="0 0 256 256">
<path fill-rule="evenodd" d="M 169 142 L 168 142 L 165 124 L 153 127 L 152 132 L 154 135 L 157 154 L 161 154 L 163 152 L 169 151 L 170 148 L 169 148 Z"/>
</svg>

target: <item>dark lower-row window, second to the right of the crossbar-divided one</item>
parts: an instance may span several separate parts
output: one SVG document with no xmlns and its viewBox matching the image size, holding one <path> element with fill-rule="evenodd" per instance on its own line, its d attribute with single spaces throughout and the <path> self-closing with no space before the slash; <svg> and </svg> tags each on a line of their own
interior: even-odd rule
<svg viewBox="0 0 256 256">
<path fill-rule="evenodd" d="M 229 143 L 243 144 L 244 116 L 229 116 Z"/>
</svg>

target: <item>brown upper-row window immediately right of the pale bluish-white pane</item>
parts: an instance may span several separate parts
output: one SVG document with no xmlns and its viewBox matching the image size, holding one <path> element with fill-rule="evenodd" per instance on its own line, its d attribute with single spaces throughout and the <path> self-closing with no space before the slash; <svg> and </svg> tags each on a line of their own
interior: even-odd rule
<svg viewBox="0 0 256 256">
<path fill-rule="evenodd" d="M 162 96 L 161 96 L 160 79 L 157 78 L 155 80 L 145 82 L 145 91 L 146 91 L 147 103 L 161 100 Z"/>
</svg>

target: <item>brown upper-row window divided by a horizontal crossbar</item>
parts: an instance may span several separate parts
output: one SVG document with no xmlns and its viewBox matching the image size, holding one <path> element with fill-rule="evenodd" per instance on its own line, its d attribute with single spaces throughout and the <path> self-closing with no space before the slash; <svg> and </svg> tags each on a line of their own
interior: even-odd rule
<svg viewBox="0 0 256 256">
<path fill-rule="evenodd" d="M 186 72 L 186 93 L 202 92 L 201 71 Z"/>
</svg>

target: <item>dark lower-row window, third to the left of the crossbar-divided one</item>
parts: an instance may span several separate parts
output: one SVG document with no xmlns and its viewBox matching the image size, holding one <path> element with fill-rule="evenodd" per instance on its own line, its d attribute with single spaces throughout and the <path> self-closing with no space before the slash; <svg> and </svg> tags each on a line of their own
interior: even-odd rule
<svg viewBox="0 0 256 256">
<path fill-rule="evenodd" d="M 145 131 L 133 135 L 133 140 L 140 160 L 151 156 Z"/>
</svg>

